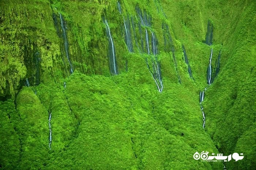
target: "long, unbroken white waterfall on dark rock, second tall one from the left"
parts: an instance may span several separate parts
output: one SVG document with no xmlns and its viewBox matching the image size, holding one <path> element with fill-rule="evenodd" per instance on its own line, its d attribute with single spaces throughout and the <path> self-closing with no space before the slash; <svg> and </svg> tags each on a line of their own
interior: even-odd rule
<svg viewBox="0 0 256 170">
<path fill-rule="evenodd" d="M 109 39 L 109 49 L 111 51 L 111 52 L 109 52 L 110 71 L 113 75 L 117 75 L 118 72 L 117 72 L 116 55 L 115 55 L 115 50 L 114 50 L 113 39 L 111 37 L 108 21 L 106 19 L 105 20 L 103 19 L 103 22 L 104 22 L 105 27 L 106 27 L 107 36 L 108 36 L 108 39 Z"/>
</svg>

